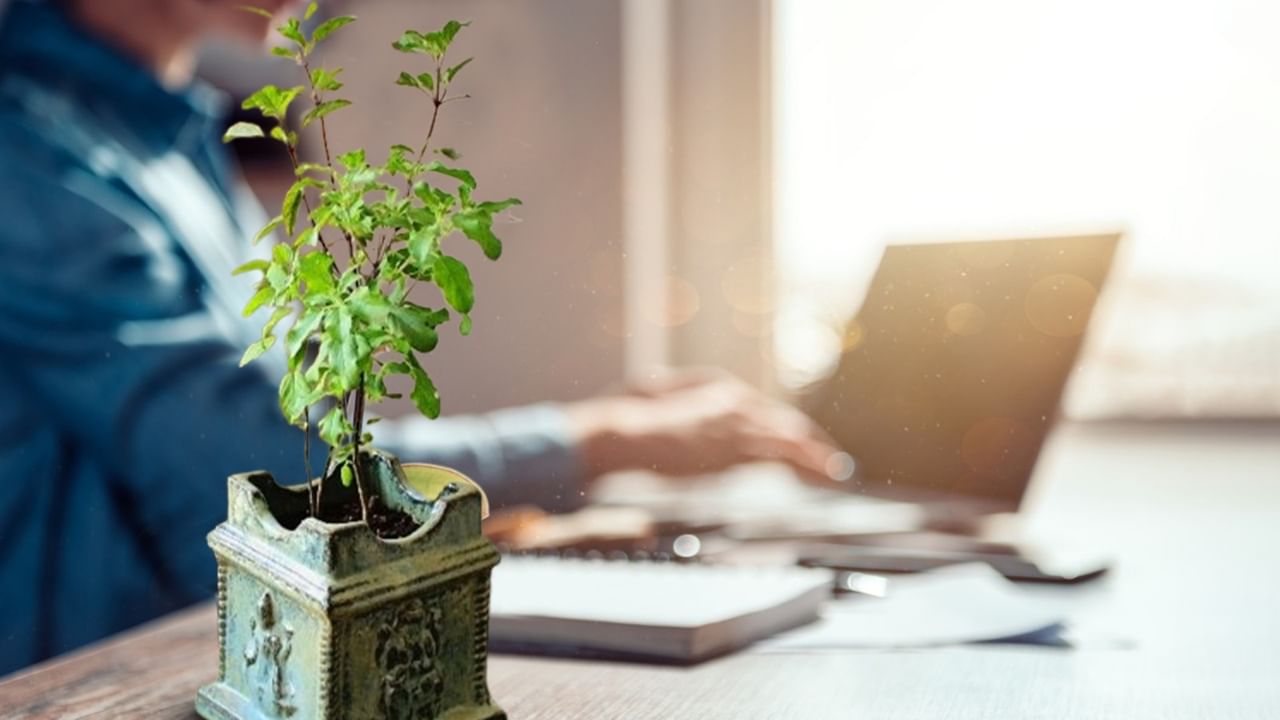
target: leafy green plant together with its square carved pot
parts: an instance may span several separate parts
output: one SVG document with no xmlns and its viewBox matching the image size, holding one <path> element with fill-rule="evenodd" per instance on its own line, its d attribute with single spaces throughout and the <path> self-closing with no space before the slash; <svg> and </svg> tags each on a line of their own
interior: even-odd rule
<svg viewBox="0 0 1280 720">
<path fill-rule="evenodd" d="M 445 59 L 465 23 L 407 31 L 393 44 L 425 68 L 396 78 L 428 104 L 420 145 L 393 145 L 381 164 L 364 150 L 330 154 L 326 119 L 349 102 L 335 96 L 340 68 L 320 67 L 312 54 L 353 18 L 308 32 L 315 12 L 311 4 L 301 19 L 287 19 L 278 28 L 287 44 L 273 49 L 301 65 L 306 85 L 255 92 L 244 108 L 261 111 L 268 127 L 237 123 L 224 140 L 269 136 L 293 161 L 297 181 L 259 233 L 284 241 L 270 259 L 237 270 L 261 273 L 244 314 L 269 313 L 242 364 L 283 346 L 280 410 L 310 437 L 319 409 L 329 459 L 319 478 L 294 487 L 265 473 L 229 478 L 227 521 L 209 536 L 219 676 L 196 707 L 241 720 L 506 717 L 485 678 L 498 555 L 480 533 L 484 496 L 457 473 L 401 465 L 372 448 L 367 427 L 376 419 L 367 410 L 393 397 L 388 378 L 406 375 L 416 407 L 439 414 L 420 355 L 454 315 L 467 334 L 475 302 L 466 264 L 442 243 L 466 237 L 497 259 L 493 218 L 518 200 L 477 200 L 458 154 L 433 143 L 440 110 L 466 97 L 452 90 L 470 59 Z M 298 152 L 298 132 L 311 126 L 323 161 Z M 411 297 L 420 283 L 439 288 L 440 307 Z"/>
</svg>

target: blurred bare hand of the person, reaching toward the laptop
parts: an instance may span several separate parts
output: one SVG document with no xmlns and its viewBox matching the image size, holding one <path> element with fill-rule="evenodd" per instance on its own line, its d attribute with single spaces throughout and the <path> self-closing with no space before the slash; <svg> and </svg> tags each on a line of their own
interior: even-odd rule
<svg viewBox="0 0 1280 720">
<path fill-rule="evenodd" d="M 645 378 L 626 395 L 572 404 L 568 414 L 593 479 L 627 469 L 694 475 L 774 460 L 808 482 L 837 484 L 828 469 L 842 454 L 813 420 L 721 370 Z"/>
</svg>

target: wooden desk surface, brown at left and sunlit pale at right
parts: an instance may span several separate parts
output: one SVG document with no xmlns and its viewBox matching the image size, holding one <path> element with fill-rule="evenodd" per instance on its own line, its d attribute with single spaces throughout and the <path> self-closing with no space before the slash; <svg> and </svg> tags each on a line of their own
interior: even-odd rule
<svg viewBox="0 0 1280 720">
<path fill-rule="evenodd" d="M 746 651 L 696 667 L 495 656 L 516 719 L 1280 717 L 1280 425 L 1068 425 L 1029 529 L 1111 552 L 1073 647 Z M 191 719 L 216 661 L 198 607 L 0 682 L 3 717 Z"/>
</svg>

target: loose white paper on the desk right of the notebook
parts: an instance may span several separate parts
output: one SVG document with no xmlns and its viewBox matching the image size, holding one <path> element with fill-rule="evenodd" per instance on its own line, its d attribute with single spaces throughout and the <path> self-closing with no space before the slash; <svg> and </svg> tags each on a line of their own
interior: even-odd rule
<svg viewBox="0 0 1280 720">
<path fill-rule="evenodd" d="M 1061 606 L 973 562 L 891 578 L 883 598 L 846 596 L 813 625 L 756 646 L 764 652 L 925 647 L 996 641 L 1062 623 Z"/>
</svg>

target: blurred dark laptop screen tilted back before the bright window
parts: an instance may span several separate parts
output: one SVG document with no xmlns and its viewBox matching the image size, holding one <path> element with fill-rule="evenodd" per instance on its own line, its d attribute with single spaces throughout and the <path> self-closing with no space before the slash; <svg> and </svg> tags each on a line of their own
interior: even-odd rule
<svg viewBox="0 0 1280 720">
<path fill-rule="evenodd" d="M 861 492 L 1018 507 L 1119 234 L 886 249 L 806 410 Z"/>
</svg>

